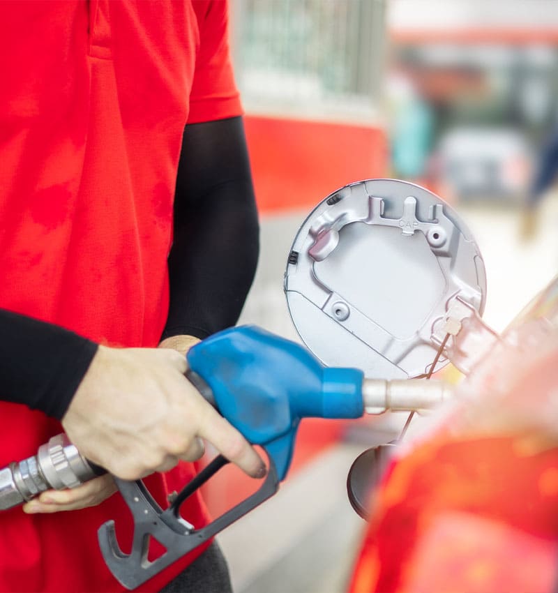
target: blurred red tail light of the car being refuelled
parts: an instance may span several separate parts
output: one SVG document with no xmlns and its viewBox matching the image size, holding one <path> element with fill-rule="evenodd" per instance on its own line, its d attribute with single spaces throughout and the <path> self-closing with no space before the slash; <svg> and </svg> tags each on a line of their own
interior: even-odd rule
<svg viewBox="0 0 558 593">
<path fill-rule="evenodd" d="M 555 591 L 557 461 L 518 437 L 419 447 L 382 489 L 351 592 Z"/>
</svg>

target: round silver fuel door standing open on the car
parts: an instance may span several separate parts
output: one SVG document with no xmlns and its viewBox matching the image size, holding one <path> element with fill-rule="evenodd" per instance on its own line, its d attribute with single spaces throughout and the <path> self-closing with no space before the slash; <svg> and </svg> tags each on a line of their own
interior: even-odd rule
<svg viewBox="0 0 558 593">
<path fill-rule="evenodd" d="M 485 293 L 481 254 L 458 214 L 395 179 L 351 183 L 320 202 L 285 271 L 289 311 L 309 350 L 326 366 L 381 379 L 428 373 L 448 321 L 481 315 Z"/>
</svg>

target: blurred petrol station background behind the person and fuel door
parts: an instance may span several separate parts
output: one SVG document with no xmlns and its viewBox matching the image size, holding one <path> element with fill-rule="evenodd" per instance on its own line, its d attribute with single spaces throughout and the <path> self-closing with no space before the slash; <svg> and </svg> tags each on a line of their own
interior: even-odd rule
<svg viewBox="0 0 558 593">
<path fill-rule="evenodd" d="M 262 222 L 241 323 L 296 339 L 282 277 L 302 221 L 340 186 L 396 177 L 469 225 L 484 317 L 502 331 L 558 271 L 558 2 L 231 0 L 231 11 Z M 404 420 L 303 423 L 281 492 L 221 536 L 237 593 L 345 590 L 363 529 L 347 471 Z M 209 506 L 250 488 L 229 474 Z"/>
</svg>

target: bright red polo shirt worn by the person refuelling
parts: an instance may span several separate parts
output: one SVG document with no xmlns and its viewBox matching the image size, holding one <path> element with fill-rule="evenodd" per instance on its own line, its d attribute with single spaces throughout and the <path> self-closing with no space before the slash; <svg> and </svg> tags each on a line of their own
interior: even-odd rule
<svg viewBox="0 0 558 593">
<path fill-rule="evenodd" d="M 0 3 L 1 308 L 108 345 L 157 345 L 183 128 L 241 114 L 226 29 L 225 1 Z M 0 419 L 0 467 L 61 431 L 17 404 L 0 402 Z M 165 504 L 193 473 L 182 464 L 149 486 Z M 206 522 L 198 497 L 185 507 Z M 119 495 L 54 515 L 4 511 L 0 590 L 122 590 L 96 532 L 115 518 L 129 541 L 128 516 Z"/>
</svg>

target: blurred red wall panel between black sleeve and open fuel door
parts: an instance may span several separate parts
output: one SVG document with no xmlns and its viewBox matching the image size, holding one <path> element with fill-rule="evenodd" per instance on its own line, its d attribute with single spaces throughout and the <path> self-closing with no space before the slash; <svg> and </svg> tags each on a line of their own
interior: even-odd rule
<svg viewBox="0 0 558 593">
<path fill-rule="evenodd" d="M 248 149 L 259 211 L 314 207 L 352 181 L 385 177 L 378 127 L 248 115 Z"/>
</svg>

